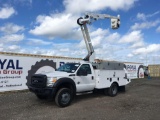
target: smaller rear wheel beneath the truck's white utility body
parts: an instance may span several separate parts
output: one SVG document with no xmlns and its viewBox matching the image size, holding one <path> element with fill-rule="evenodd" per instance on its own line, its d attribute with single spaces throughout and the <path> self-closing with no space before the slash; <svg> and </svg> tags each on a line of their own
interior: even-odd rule
<svg viewBox="0 0 160 120">
<path fill-rule="evenodd" d="M 111 97 L 116 96 L 118 93 L 118 85 L 116 83 L 112 83 L 111 87 L 108 89 L 108 95 Z"/>
</svg>

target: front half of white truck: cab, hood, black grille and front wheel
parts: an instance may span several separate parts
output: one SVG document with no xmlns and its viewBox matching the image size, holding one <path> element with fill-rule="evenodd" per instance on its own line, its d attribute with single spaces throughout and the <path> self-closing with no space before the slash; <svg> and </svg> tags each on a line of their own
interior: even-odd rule
<svg viewBox="0 0 160 120">
<path fill-rule="evenodd" d="M 55 98 L 61 107 L 69 105 L 76 93 L 94 90 L 95 84 L 95 74 L 90 63 L 66 63 L 52 73 L 35 74 L 31 81 L 27 81 L 29 90 L 38 98 Z M 65 104 L 59 100 L 63 98 L 63 90 L 67 91 L 64 94 L 67 97 L 64 98 L 69 98 Z"/>
</svg>

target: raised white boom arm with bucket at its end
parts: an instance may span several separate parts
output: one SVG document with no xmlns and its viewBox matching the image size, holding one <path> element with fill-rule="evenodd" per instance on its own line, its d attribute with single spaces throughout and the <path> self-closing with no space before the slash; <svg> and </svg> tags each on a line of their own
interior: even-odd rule
<svg viewBox="0 0 160 120">
<path fill-rule="evenodd" d="M 120 15 L 117 17 L 108 14 L 93 14 L 87 13 L 84 17 L 77 19 L 77 24 L 81 26 L 81 31 L 85 40 L 85 44 L 88 50 L 88 55 L 84 58 L 85 61 L 94 62 L 95 52 L 90 39 L 88 28 L 86 24 L 91 24 L 98 19 L 111 19 L 111 28 L 118 29 L 120 26 Z"/>
</svg>

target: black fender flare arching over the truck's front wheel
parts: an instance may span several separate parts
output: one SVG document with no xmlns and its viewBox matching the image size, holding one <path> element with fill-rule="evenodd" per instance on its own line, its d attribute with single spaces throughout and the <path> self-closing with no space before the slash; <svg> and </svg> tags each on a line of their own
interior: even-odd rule
<svg viewBox="0 0 160 120">
<path fill-rule="evenodd" d="M 71 78 L 67 78 L 67 77 L 60 78 L 60 79 L 58 79 L 58 80 L 54 83 L 53 87 L 56 88 L 56 91 L 57 91 L 58 88 L 59 88 L 61 85 L 63 85 L 63 84 L 70 84 L 70 85 L 72 85 L 72 87 L 73 87 L 73 94 L 74 94 L 74 95 L 76 94 L 76 84 L 75 84 L 75 82 L 74 82 Z"/>
</svg>

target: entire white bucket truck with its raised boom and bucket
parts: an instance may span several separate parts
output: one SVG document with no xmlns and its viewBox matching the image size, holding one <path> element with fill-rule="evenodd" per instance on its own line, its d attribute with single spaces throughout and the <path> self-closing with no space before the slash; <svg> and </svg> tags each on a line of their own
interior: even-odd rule
<svg viewBox="0 0 160 120">
<path fill-rule="evenodd" d="M 35 74 L 27 81 L 30 91 L 38 98 L 51 97 L 60 107 L 68 106 L 77 93 L 104 90 L 106 95 L 116 96 L 119 88 L 125 90 L 130 82 L 124 70 L 124 64 L 115 61 L 95 61 L 95 52 L 90 40 L 86 24 L 98 19 L 111 19 L 111 27 L 117 29 L 120 17 L 106 14 L 86 14 L 79 18 L 82 34 L 88 50 L 88 55 L 81 63 L 66 63 L 52 73 Z"/>
</svg>

